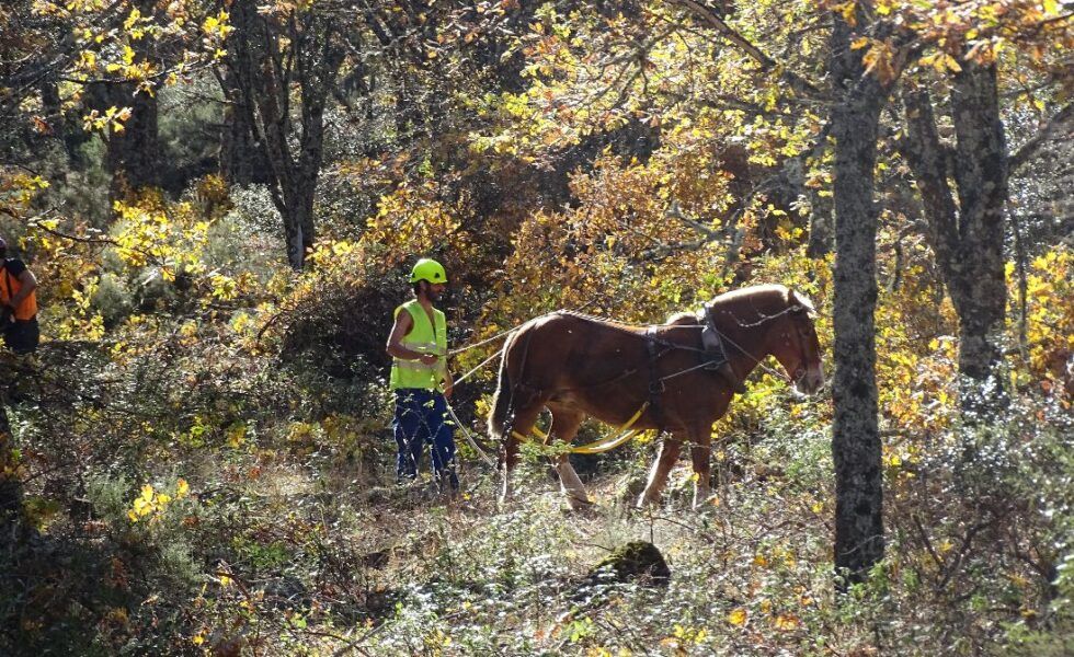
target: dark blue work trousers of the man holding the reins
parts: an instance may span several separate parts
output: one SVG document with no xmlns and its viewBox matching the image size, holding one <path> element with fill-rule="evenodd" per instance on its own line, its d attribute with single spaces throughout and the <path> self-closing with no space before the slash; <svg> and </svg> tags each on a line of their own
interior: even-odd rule
<svg viewBox="0 0 1074 657">
<path fill-rule="evenodd" d="M 436 390 L 400 388 L 396 390 L 396 479 L 418 477 L 418 465 L 425 445 L 430 447 L 433 471 L 442 483 L 458 489 L 455 473 L 455 422 L 447 413 L 447 400 Z"/>
</svg>

